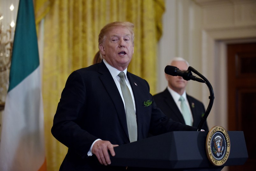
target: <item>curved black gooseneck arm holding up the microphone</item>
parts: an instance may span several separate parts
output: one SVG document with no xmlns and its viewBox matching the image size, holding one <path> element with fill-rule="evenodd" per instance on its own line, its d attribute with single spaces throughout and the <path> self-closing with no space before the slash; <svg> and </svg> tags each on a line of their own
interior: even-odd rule
<svg viewBox="0 0 256 171">
<path fill-rule="evenodd" d="M 213 89 L 212 89 L 212 86 L 211 86 L 211 83 L 202 75 L 200 74 L 196 69 L 194 69 L 193 67 L 188 67 L 188 70 L 189 71 L 192 71 L 194 73 L 196 73 L 198 76 L 200 76 L 206 83 L 206 85 L 208 86 L 209 88 L 209 91 L 210 91 L 210 96 L 209 96 L 209 99 L 210 99 L 210 102 L 209 102 L 209 105 L 205 111 L 205 114 L 203 115 L 200 123 L 198 124 L 197 126 L 197 131 L 201 131 L 202 129 L 202 126 L 203 126 L 203 123 L 206 121 L 209 113 L 210 113 L 210 110 L 212 108 L 212 105 L 213 105 L 213 100 L 214 100 L 214 92 L 213 92 Z"/>
</svg>

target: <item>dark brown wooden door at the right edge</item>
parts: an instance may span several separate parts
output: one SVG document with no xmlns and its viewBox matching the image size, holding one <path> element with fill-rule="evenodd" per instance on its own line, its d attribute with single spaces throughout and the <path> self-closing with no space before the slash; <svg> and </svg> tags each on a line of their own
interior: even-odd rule
<svg viewBox="0 0 256 171">
<path fill-rule="evenodd" d="M 249 157 L 245 165 L 232 166 L 229 170 L 255 170 L 256 43 L 228 44 L 227 56 L 228 130 L 244 131 Z"/>
</svg>

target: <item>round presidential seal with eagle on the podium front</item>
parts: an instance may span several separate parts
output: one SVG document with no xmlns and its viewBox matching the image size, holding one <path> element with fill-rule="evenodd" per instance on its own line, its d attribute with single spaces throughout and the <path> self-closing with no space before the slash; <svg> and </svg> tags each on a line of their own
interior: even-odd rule
<svg viewBox="0 0 256 171">
<path fill-rule="evenodd" d="M 221 126 L 210 129 L 206 138 L 206 154 L 215 166 L 223 165 L 230 153 L 230 139 L 228 132 Z"/>
</svg>

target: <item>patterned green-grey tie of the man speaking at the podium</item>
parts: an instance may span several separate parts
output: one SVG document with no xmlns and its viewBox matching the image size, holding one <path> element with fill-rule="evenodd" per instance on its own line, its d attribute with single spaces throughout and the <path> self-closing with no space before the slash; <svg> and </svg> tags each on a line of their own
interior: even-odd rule
<svg viewBox="0 0 256 171">
<path fill-rule="evenodd" d="M 120 86 L 121 86 L 122 94 L 124 97 L 126 122 L 128 127 L 129 139 L 130 139 L 130 142 L 137 141 L 137 121 L 136 121 L 136 114 L 135 114 L 134 105 L 132 101 L 132 95 L 125 83 L 124 72 L 120 72 L 118 76 L 120 77 Z"/>
</svg>

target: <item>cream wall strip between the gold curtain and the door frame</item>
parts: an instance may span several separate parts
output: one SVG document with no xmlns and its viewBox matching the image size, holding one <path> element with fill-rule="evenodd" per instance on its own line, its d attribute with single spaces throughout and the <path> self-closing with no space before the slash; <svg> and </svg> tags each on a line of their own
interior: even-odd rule
<svg viewBox="0 0 256 171">
<path fill-rule="evenodd" d="M 199 72 L 201 64 L 201 27 L 202 10 L 191 0 L 166 0 L 166 12 L 163 16 L 163 35 L 159 42 L 157 91 L 167 86 L 164 68 L 174 56 L 185 58 L 190 66 Z M 191 95 L 202 96 L 200 91 L 203 85 L 189 82 L 188 89 Z M 193 89 L 191 88 L 193 87 Z M 193 92 L 192 92 L 193 90 Z"/>
</svg>

